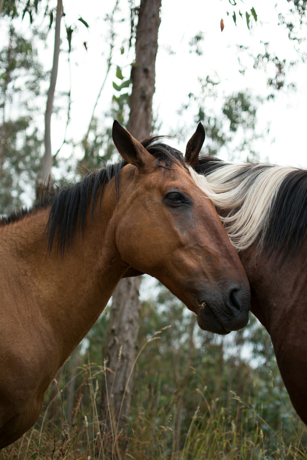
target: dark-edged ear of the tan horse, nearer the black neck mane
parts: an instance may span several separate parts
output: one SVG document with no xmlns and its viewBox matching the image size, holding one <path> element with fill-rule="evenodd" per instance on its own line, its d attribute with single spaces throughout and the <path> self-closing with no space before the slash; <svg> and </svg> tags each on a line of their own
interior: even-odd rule
<svg viewBox="0 0 307 460">
<path fill-rule="evenodd" d="M 117 120 L 113 122 L 112 138 L 116 149 L 127 163 L 138 168 L 144 167 L 146 157 L 150 154 Z"/>
</svg>

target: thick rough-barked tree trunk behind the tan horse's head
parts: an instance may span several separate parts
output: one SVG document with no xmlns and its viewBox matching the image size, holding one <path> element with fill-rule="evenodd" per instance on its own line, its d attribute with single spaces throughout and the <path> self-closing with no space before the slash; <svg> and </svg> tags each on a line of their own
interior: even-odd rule
<svg viewBox="0 0 307 460">
<path fill-rule="evenodd" d="M 131 70 L 133 86 L 127 124 L 128 131 L 137 139 L 146 138 L 151 134 L 160 8 L 161 0 L 141 0 L 139 7 L 135 45 L 136 65 Z M 129 382 L 127 378 L 133 366 L 137 347 L 140 283 L 141 277 L 123 279 L 113 294 L 108 345 L 104 357 L 108 361 L 107 367 L 115 374 L 107 373 L 101 402 L 104 432 L 106 438 L 113 437 L 113 443 L 124 428 L 129 414 L 133 374 Z M 126 394 L 122 401 L 126 386 Z"/>
</svg>

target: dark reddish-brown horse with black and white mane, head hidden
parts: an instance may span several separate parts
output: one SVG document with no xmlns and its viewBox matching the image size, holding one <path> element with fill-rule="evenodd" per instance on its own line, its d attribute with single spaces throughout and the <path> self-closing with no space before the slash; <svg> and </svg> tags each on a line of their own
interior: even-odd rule
<svg viewBox="0 0 307 460">
<path fill-rule="evenodd" d="M 307 424 L 307 171 L 209 156 L 187 160 L 237 248 L 251 311 L 271 335 L 293 407 Z"/>
</svg>

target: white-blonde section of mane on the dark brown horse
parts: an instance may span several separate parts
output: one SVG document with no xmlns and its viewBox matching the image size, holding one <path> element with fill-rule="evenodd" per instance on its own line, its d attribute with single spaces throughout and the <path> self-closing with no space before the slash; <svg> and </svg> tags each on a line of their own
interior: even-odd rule
<svg viewBox="0 0 307 460">
<path fill-rule="evenodd" d="M 213 202 L 237 251 L 262 247 L 279 187 L 294 167 L 225 164 L 206 177 L 189 167 L 192 178 Z"/>
</svg>

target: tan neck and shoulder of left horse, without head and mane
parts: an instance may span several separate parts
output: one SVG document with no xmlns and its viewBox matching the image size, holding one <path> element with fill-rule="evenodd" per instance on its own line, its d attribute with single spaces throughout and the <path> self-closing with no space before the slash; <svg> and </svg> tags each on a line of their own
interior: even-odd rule
<svg viewBox="0 0 307 460">
<path fill-rule="evenodd" d="M 108 192 L 104 201 L 114 200 Z M 49 258 L 42 237 L 47 221 L 46 209 L 1 229 L 0 447 L 33 425 L 50 382 L 127 269 L 112 262 L 115 245 L 100 225 L 88 225 L 83 249 L 73 245 L 61 259 L 54 248 Z"/>
</svg>

